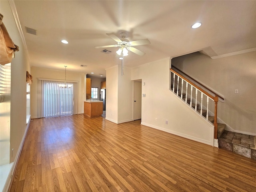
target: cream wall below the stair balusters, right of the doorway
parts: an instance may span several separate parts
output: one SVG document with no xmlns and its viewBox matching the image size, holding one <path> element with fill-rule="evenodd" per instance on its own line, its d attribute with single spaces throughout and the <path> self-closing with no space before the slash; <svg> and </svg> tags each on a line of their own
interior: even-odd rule
<svg viewBox="0 0 256 192">
<path fill-rule="evenodd" d="M 170 58 L 132 69 L 131 80 L 145 82 L 141 124 L 213 145 L 214 126 L 169 90 L 169 69 Z"/>
</svg>

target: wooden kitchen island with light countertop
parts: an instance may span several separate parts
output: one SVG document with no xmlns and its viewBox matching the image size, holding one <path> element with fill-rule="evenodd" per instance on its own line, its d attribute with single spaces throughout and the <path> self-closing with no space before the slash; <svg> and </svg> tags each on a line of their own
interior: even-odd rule
<svg viewBox="0 0 256 192">
<path fill-rule="evenodd" d="M 84 114 L 88 117 L 98 117 L 103 114 L 103 101 L 86 100 L 84 101 Z"/>
</svg>

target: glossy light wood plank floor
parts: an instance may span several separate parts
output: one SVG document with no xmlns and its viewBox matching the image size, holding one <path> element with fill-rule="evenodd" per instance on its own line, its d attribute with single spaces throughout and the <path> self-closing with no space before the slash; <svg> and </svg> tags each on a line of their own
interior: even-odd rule
<svg viewBox="0 0 256 192">
<path fill-rule="evenodd" d="M 11 192 L 255 192 L 256 161 L 83 114 L 34 119 Z"/>
</svg>

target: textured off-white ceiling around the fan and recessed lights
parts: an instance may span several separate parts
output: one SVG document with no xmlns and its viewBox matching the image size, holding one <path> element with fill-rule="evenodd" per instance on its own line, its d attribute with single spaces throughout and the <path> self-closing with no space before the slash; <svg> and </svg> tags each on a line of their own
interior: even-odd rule
<svg viewBox="0 0 256 192">
<path fill-rule="evenodd" d="M 106 33 L 148 38 L 124 65 L 138 66 L 167 57 L 206 50 L 211 56 L 256 48 L 256 1 L 83 1 L 15 0 L 30 65 L 90 73 L 95 77 L 120 60 L 118 48 L 104 54 L 94 46 L 116 44 Z M 198 29 L 190 26 L 202 22 Z M 25 26 L 38 30 L 26 33 Z M 69 44 L 62 44 L 66 39 Z M 86 68 L 80 65 L 87 65 Z"/>
</svg>

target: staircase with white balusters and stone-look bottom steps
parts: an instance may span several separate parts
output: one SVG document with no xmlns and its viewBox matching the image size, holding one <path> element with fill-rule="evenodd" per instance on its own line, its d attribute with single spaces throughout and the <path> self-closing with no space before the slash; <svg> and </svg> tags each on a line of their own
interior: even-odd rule
<svg viewBox="0 0 256 192">
<path fill-rule="evenodd" d="M 203 90 L 201 90 L 201 88 L 199 88 L 198 86 L 196 87 L 196 96 L 195 98 L 192 97 L 192 100 L 190 98 L 186 98 L 186 96 L 188 97 L 188 82 L 191 86 L 191 94 L 193 92 L 193 83 L 184 78 L 182 75 L 178 74 L 177 72 L 173 71 L 170 69 L 170 71 L 172 72 L 173 75 L 173 80 L 171 82 L 171 90 L 172 92 L 178 96 L 180 99 L 183 99 L 184 102 L 186 102 L 188 104 L 188 106 L 190 106 L 191 108 L 195 109 L 195 112 L 197 112 L 198 114 L 201 115 L 202 118 L 208 118 L 208 121 L 210 121 L 212 124 L 214 124 L 214 116 L 209 116 L 207 113 L 209 113 L 208 110 L 208 100 L 210 100 L 209 98 L 207 98 L 207 110 L 203 109 L 201 110 L 200 104 L 198 104 L 199 100 L 200 100 L 200 96 L 198 97 L 198 92 L 202 92 L 201 94 L 201 103 L 203 103 L 203 93 L 205 93 Z M 175 79 L 175 76 L 178 76 L 178 80 Z M 179 84 L 179 78 L 181 78 L 182 80 L 182 85 L 180 86 Z M 174 82 L 174 83 L 173 83 Z M 184 84 L 186 83 L 186 88 L 184 88 Z M 174 89 L 173 89 L 174 86 Z M 177 89 L 178 89 L 178 94 L 177 94 Z M 184 92 L 186 92 L 186 94 L 184 94 Z M 191 101 L 191 103 L 190 103 Z M 215 98 L 214 98 L 214 102 L 215 102 Z M 218 102 L 218 100 L 217 100 Z M 216 106 L 216 102 L 215 102 L 215 107 Z M 217 114 L 217 112 L 214 114 Z M 247 158 L 251 158 L 256 160 L 256 136 L 251 136 L 251 135 L 246 135 L 246 134 L 240 134 L 240 133 L 236 133 L 236 132 L 230 132 L 225 130 L 226 129 L 226 124 L 222 124 L 222 123 L 218 123 L 217 122 L 217 133 L 215 132 L 215 138 L 218 139 L 218 146 L 221 149 L 224 150 L 228 150 L 231 152 L 234 152 L 236 154 L 242 155 L 244 157 Z M 215 130 L 216 131 L 216 130 Z"/>
</svg>

